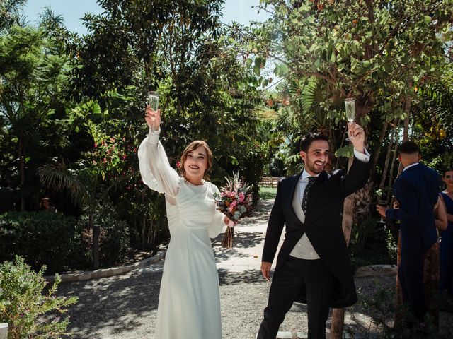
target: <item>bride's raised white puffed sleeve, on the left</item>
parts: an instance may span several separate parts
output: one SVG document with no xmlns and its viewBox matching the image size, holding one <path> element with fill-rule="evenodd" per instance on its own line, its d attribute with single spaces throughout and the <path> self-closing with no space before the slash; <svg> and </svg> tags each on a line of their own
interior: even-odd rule
<svg viewBox="0 0 453 339">
<path fill-rule="evenodd" d="M 144 184 L 153 191 L 175 197 L 180 187 L 180 177 L 170 166 L 167 155 L 159 141 L 159 131 L 149 131 L 139 147 L 139 168 Z"/>
</svg>

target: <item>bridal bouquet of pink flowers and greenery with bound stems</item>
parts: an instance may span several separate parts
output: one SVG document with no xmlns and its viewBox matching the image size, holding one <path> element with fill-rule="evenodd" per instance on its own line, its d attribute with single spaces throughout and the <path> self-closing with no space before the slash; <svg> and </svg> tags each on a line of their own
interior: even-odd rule
<svg viewBox="0 0 453 339">
<path fill-rule="evenodd" d="M 222 187 L 220 194 L 214 194 L 217 209 L 224 213 L 230 221 L 229 226 L 233 226 L 252 209 L 252 197 L 248 192 L 250 185 L 239 180 L 239 173 L 234 173 L 232 178 L 225 177 L 226 185 Z M 234 229 L 227 227 L 222 240 L 222 246 L 231 249 L 234 243 Z"/>
</svg>

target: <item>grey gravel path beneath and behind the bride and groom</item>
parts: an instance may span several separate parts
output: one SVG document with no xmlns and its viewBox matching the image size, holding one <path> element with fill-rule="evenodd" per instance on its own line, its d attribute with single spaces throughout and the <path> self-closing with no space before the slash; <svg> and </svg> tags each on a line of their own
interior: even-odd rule
<svg viewBox="0 0 453 339">
<path fill-rule="evenodd" d="M 225 339 L 256 338 L 270 287 L 270 283 L 261 277 L 259 268 L 265 225 L 272 203 L 263 201 L 250 218 L 243 220 L 241 227 L 236 227 L 234 249 L 222 249 L 222 236 L 213 242 L 219 270 Z M 69 331 L 74 333 L 71 338 L 154 338 L 162 268 L 163 261 L 160 261 L 125 275 L 60 284 L 59 295 L 79 297 L 79 302 L 69 309 Z M 376 290 L 378 281 L 384 288 L 392 289 L 395 278 L 355 279 L 360 294 Z M 448 320 L 442 319 L 444 321 L 451 323 L 451 314 Z M 353 333 L 376 334 L 374 326 L 371 326 L 369 309 L 360 303 L 346 310 L 345 328 Z M 293 305 L 280 331 L 306 333 L 305 305 Z"/>
</svg>

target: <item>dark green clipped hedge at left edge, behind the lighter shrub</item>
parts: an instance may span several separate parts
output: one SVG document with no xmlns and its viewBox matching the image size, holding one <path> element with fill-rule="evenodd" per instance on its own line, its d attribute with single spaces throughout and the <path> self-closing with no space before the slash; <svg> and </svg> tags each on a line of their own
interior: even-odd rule
<svg viewBox="0 0 453 339">
<path fill-rule="evenodd" d="M 22 256 L 34 270 L 62 272 L 74 246 L 76 222 L 48 212 L 11 212 L 0 219 L 0 261 Z"/>
</svg>

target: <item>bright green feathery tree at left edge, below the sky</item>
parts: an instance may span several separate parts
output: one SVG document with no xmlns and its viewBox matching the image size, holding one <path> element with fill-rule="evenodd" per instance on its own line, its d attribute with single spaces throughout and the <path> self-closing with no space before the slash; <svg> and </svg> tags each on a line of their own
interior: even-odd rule
<svg viewBox="0 0 453 339">
<path fill-rule="evenodd" d="M 0 35 L 0 159 L 2 174 L 22 186 L 22 210 L 30 208 L 38 186 L 36 167 L 55 152 L 52 147 L 67 145 L 66 126 L 59 119 L 68 58 L 56 53 L 52 43 L 42 30 L 28 26 L 16 25 Z"/>
</svg>

